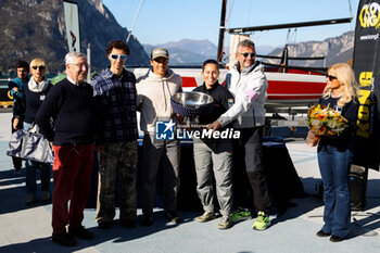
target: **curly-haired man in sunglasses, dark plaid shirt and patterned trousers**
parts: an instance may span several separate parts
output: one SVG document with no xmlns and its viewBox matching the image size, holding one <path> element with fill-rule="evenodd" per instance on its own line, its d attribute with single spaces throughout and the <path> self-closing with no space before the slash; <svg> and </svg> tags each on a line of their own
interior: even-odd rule
<svg viewBox="0 0 380 253">
<path fill-rule="evenodd" d="M 134 228 L 136 207 L 137 115 L 136 77 L 124 68 L 130 53 L 122 40 L 109 43 L 111 66 L 92 81 L 99 121 L 96 148 L 99 157 L 97 222 L 107 229 L 115 216 L 115 185 L 118 178 L 119 223 Z"/>
</svg>

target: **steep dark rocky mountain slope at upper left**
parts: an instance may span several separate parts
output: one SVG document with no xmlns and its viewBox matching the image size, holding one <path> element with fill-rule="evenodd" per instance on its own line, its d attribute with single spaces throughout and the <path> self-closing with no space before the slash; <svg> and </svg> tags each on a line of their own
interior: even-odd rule
<svg viewBox="0 0 380 253">
<path fill-rule="evenodd" d="M 78 0 L 81 52 L 91 45 L 91 68 L 109 65 L 107 43 L 126 40 L 123 28 L 102 0 Z M 0 1 L 0 72 L 14 67 L 17 60 L 30 62 L 42 58 L 50 72 L 64 69 L 64 55 L 68 51 L 62 0 L 1 0 Z M 149 58 L 140 42 L 131 37 L 128 43 L 130 65 L 144 65 Z"/>
</svg>

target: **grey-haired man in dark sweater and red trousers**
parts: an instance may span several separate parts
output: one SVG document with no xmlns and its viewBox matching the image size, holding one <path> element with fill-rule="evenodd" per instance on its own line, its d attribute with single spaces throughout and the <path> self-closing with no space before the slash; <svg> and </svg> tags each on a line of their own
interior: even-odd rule
<svg viewBox="0 0 380 253">
<path fill-rule="evenodd" d="M 52 240 L 74 246 L 74 237 L 93 238 L 81 222 L 90 192 L 97 119 L 93 90 L 85 81 L 88 73 L 86 55 L 69 52 L 65 61 L 67 77 L 51 89 L 36 115 L 36 122 L 43 136 L 53 142 L 55 155 Z M 50 124 L 51 118 L 54 128 Z"/>
</svg>

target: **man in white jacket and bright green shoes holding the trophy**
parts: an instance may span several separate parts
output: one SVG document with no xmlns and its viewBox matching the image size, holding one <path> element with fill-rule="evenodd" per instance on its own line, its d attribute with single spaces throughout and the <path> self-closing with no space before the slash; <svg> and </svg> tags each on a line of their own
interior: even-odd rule
<svg viewBox="0 0 380 253">
<path fill-rule="evenodd" d="M 268 83 L 264 66 L 255 61 L 255 45 L 251 40 L 238 45 L 238 62 L 226 76 L 226 87 L 235 96 L 235 104 L 208 127 L 217 130 L 236 121 L 233 128 L 240 130 L 240 139 L 233 140 L 232 185 L 233 198 L 240 206 L 231 220 L 251 218 L 251 213 L 257 211 L 252 228 L 264 230 L 270 224 L 271 207 L 263 167 L 264 103 Z"/>
</svg>

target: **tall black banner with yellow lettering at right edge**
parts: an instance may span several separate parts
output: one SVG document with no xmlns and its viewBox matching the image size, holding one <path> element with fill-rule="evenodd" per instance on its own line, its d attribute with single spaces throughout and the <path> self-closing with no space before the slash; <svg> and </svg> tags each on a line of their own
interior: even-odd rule
<svg viewBox="0 0 380 253">
<path fill-rule="evenodd" d="M 354 71 L 360 86 L 354 163 L 379 169 L 380 0 L 360 0 L 357 9 Z"/>
</svg>

